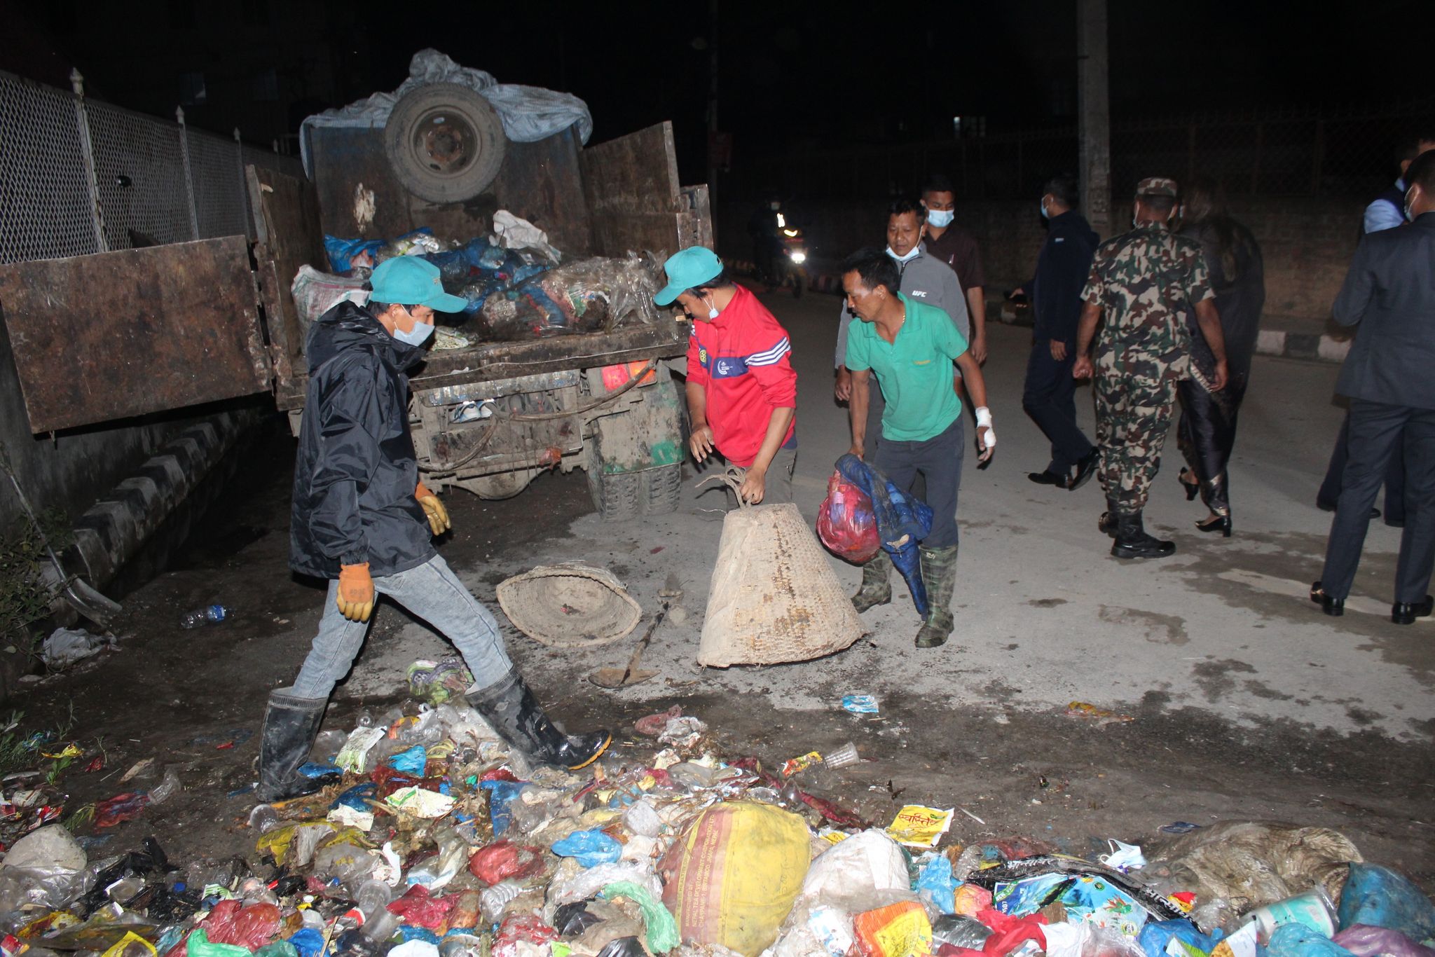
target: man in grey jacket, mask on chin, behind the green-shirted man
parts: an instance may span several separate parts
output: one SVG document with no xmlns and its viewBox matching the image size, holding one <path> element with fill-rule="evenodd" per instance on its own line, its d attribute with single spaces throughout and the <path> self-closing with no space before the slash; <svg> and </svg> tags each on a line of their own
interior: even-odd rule
<svg viewBox="0 0 1435 957">
<path fill-rule="evenodd" d="M 944 261 L 928 255 L 923 244 L 927 235 L 927 209 L 914 199 L 895 199 L 887 208 L 887 255 L 897 263 L 901 277 L 901 294 L 936 306 L 947 316 L 961 333 L 963 340 L 971 334 L 971 320 L 967 314 L 967 300 L 961 294 L 961 283 L 957 274 Z M 837 327 L 837 385 L 832 389 L 838 402 L 847 402 L 852 396 L 852 373 L 847 369 L 847 329 L 852 324 L 852 313 L 842 304 L 841 321 Z M 881 433 L 883 400 L 881 389 L 877 387 L 877 377 L 871 382 L 871 405 L 867 406 L 867 435 L 875 448 L 877 436 Z M 961 373 L 953 369 L 953 389 L 961 385 Z"/>
</svg>

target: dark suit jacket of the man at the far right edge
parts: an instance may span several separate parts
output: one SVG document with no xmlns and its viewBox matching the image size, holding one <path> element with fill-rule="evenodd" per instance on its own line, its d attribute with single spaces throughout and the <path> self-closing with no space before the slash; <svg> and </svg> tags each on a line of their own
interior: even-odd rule
<svg viewBox="0 0 1435 957">
<path fill-rule="evenodd" d="M 1358 326 L 1336 392 L 1435 409 L 1435 212 L 1360 240 L 1335 319 Z"/>
</svg>

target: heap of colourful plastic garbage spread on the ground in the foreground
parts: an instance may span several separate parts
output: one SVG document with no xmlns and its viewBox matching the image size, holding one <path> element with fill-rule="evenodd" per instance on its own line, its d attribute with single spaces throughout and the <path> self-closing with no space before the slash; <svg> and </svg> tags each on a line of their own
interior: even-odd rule
<svg viewBox="0 0 1435 957">
<path fill-rule="evenodd" d="M 86 859 L 63 826 L 0 867 L 7 957 L 1431 957 L 1435 905 L 1342 835 L 1260 822 L 1086 861 L 943 842 L 951 809 L 887 826 L 815 793 L 844 765 L 725 759 L 680 707 L 581 772 L 534 768 L 464 704 L 458 661 L 329 730 L 316 795 L 258 805 L 251 865 L 179 868 L 151 838 Z M 651 742 L 643 746 L 641 740 Z"/>
</svg>

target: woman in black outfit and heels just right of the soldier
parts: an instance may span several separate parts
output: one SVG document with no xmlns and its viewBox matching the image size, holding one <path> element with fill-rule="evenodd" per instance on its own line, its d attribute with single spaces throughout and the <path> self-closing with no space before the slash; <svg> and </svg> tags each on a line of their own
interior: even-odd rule
<svg viewBox="0 0 1435 957">
<path fill-rule="evenodd" d="M 1181 232 L 1201 242 L 1205 264 L 1215 290 L 1215 308 L 1225 336 L 1225 363 L 1230 376 L 1225 387 L 1211 392 L 1215 372 L 1201 330 L 1191 324 L 1191 377 L 1180 383 L 1181 422 L 1177 445 L 1188 468 L 1181 469 L 1181 485 L 1191 501 L 1200 494 L 1210 515 L 1195 524 L 1203 532 L 1231 535 L 1230 476 L 1225 463 L 1236 445 L 1236 416 L 1250 380 L 1256 333 L 1266 304 L 1266 278 L 1256 237 L 1231 220 L 1224 198 L 1208 181 L 1195 179 L 1181 197 Z"/>
</svg>

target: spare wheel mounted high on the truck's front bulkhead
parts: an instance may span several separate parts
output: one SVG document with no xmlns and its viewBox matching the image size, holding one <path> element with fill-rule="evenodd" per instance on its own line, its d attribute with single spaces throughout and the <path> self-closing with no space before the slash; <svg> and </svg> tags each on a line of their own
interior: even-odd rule
<svg viewBox="0 0 1435 957">
<path fill-rule="evenodd" d="M 482 93 L 429 83 L 393 105 L 385 151 L 399 184 L 429 202 L 462 202 L 498 176 L 508 139 Z"/>
</svg>

